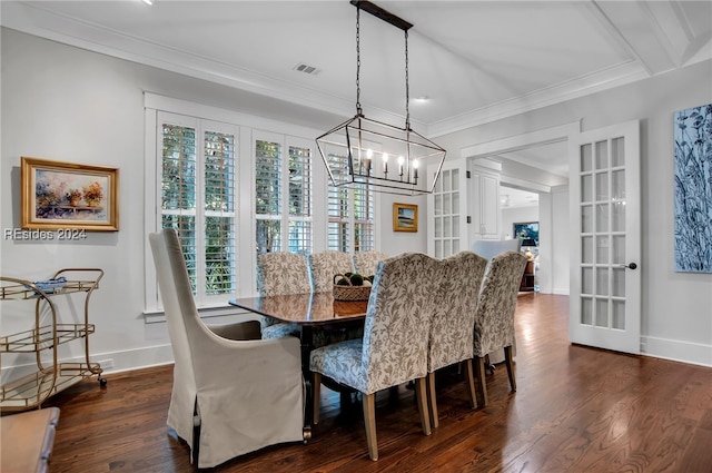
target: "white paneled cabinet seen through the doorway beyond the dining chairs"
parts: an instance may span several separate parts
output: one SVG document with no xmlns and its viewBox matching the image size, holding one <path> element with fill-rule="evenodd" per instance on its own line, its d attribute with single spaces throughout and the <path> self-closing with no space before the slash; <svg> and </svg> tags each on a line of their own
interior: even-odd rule
<svg viewBox="0 0 712 473">
<path fill-rule="evenodd" d="M 498 162 L 477 159 L 471 162 L 468 211 L 472 215 L 472 240 L 501 238 Z"/>
</svg>

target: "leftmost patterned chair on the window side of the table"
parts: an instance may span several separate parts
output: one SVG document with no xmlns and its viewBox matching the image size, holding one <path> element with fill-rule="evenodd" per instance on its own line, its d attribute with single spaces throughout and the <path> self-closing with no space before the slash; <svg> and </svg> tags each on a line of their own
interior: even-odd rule
<svg viewBox="0 0 712 473">
<path fill-rule="evenodd" d="M 312 292 L 306 256 L 298 253 L 275 252 L 257 255 L 257 290 L 260 296 L 305 294 Z M 263 338 L 299 336 L 295 324 L 260 316 Z"/>
</svg>

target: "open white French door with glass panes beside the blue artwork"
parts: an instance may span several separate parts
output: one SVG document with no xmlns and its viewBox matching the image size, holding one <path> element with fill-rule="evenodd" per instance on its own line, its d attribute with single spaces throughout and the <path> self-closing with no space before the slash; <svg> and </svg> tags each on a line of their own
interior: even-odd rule
<svg viewBox="0 0 712 473">
<path fill-rule="evenodd" d="M 570 137 L 572 343 L 640 353 L 640 125 Z"/>
</svg>

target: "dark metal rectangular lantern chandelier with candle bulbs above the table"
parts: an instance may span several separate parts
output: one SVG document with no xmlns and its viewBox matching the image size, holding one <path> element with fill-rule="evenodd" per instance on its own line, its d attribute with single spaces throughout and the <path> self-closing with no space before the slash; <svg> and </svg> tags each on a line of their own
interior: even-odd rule
<svg viewBox="0 0 712 473">
<path fill-rule="evenodd" d="M 356 7 L 356 115 L 316 139 L 334 186 L 368 185 L 373 190 L 432 194 L 445 160 L 445 149 L 411 128 L 408 108 L 408 29 L 413 24 L 369 1 L 350 0 Z M 405 126 L 397 127 L 364 116 L 360 106 L 360 10 L 405 33 Z M 436 164 L 433 180 L 426 167 Z"/>
</svg>

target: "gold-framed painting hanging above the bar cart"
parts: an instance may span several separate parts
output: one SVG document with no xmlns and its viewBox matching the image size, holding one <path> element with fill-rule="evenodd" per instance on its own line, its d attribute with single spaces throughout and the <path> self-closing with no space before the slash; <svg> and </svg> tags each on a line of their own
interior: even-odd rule
<svg viewBox="0 0 712 473">
<path fill-rule="evenodd" d="M 118 231 L 119 170 L 21 157 L 21 225 Z"/>
</svg>

